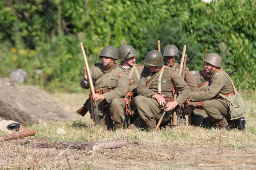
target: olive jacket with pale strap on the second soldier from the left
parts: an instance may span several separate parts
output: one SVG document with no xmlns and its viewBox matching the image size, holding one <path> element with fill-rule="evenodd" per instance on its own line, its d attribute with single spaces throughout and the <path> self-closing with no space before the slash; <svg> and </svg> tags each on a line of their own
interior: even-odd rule
<svg viewBox="0 0 256 170">
<path fill-rule="evenodd" d="M 128 91 L 133 92 L 133 95 L 137 96 L 138 95 L 137 94 L 137 87 L 138 87 L 138 83 L 139 83 L 139 80 L 140 80 L 140 75 L 141 75 L 141 72 L 142 72 L 144 66 L 143 66 L 143 64 L 136 64 L 136 65 L 133 65 L 133 67 L 135 67 L 135 68 L 132 72 L 132 75 L 130 75 L 132 67 L 124 68 L 124 69 L 128 74 L 128 78 L 130 77 L 130 80 L 129 80 L 129 83 L 128 83 Z"/>
</svg>

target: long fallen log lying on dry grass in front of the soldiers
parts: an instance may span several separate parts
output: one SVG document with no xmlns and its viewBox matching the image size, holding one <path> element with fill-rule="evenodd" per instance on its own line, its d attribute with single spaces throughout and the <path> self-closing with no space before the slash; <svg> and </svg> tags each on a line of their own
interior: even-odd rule
<svg viewBox="0 0 256 170">
<path fill-rule="evenodd" d="M 56 148 L 56 149 L 93 149 L 97 145 L 100 149 L 121 148 L 127 146 L 127 140 L 112 140 L 106 142 L 55 142 L 55 143 L 33 143 L 31 148 Z"/>
</svg>

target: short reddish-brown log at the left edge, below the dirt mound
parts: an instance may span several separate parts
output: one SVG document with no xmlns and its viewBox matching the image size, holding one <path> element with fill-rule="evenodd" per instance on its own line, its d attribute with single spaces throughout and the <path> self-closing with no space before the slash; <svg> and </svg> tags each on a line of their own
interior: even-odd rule
<svg viewBox="0 0 256 170">
<path fill-rule="evenodd" d="M 11 134 L 0 136 L 0 141 L 7 141 L 12 139 L 19 139 L 27 136 L 34 136 L 35 130 L 27 130 L 27 131 L 21 131 L 21 132 L 14 132 Z"/>
</svg>

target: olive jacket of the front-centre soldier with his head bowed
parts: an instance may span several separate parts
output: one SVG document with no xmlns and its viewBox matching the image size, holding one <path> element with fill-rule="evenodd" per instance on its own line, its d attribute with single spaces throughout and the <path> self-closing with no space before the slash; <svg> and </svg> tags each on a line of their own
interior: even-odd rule
<svg viewBox="0 0 256 170">
<path fill-rule="evenodd" d="M 149 81 L 150 77 L 154 77 L 156 73 L 152 73 L 148 67 L 144 67 L 141 73 L 141 78 L 140 78 L 138 87 L 137 87 L 138 95 L 142 95 L 150 98 L 152 95 L 159 93 L 158 84 L 160 82 L 161 94 L 166 95 L 167 97 L 173 97 L 171 77 L 174 69 L 168 66 L 163 66 L 163 67 L 166 67 L 166 68 L 163 70 L 161 78 L 160 76 L 158 76 L 148 86 L 148 88 L 146 88 L 147 82 L 150 82 Z M 173 73 L 173 83 L 174 83 L 174 86 L 181 91 L 180 95 L 176 99 L 179 106 L 181 106 L 189 96 L 190 89 L 186 84 L 186 82 L 182 79 L 182 77 L 180 77 L 180 75 L 176 71 L 174 71 Z"/>
</svg>

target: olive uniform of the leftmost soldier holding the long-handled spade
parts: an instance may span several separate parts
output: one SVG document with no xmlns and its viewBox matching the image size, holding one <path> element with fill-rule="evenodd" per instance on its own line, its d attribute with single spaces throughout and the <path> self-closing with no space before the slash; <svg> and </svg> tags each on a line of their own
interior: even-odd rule
<svg viewBox="0 0 256 170">
<path fill-rule="evenodd" d="M 118 59 L 117 50 L 116 53 L 117 57 L 114 56 L 114 59 Z M 103 56 L 108 56 L 108 52 L 106 52 L 106 54 L 104 54 Z M 110 130 L 113 128 L 113 120 L 110 116 L 109 107 L 115 107 L 115 105 L 112 106 L 114 104 L 112 103 L 113 99 L 120 99 L 125 96 L 128 88 L 128 75 L 125 72 L 124 68 L 121 66 L 115 65 L 113 68 L 106 70 L 102 63 L 96 63 L 91 68 L 91 77 L 93 79 L 95 88 L 99 88 L 100 90 L 114 89 L 103 94 L 105 99 L 97 101 L 99 107 L 100 125 Z M 87 84 L 84 79 L 81 80 L 81 86 L 86 89 L 89 88 L 89 84 Z M 87 101 L 86 103 L 86 105 L 88 106 L 87 108 L 90 111 L 89 101 Z M 90 112 L 90 114 L 93 113 Z"/>
</svg>

